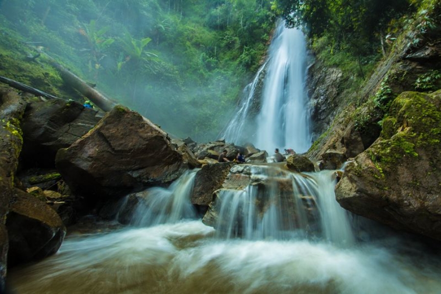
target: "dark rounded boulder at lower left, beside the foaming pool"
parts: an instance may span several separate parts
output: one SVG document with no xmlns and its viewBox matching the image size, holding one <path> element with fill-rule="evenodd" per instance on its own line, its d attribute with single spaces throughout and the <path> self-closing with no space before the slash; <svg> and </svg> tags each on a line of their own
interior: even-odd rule
<svg viewBox="0 0 441 294">
<path fill-rule="evenodd" d="M 66 235 L 66 227 L 52 208 L 19 189 L 14 190 L 6 227 L 9 267 L 54 254 Z"/>
</svg>

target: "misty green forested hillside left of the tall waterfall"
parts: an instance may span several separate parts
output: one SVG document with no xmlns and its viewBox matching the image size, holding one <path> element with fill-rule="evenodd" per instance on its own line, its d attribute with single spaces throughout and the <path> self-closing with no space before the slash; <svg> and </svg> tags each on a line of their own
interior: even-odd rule
<svg viewBox="0 0 441 294">
<path fill-rule="evenodd" d="M 270 3 L 184 2 L 2 0 L 0 23 L 24 54 L 43 50 L 172 137 L 207 142 L 266 52 Z"/>
</svg>

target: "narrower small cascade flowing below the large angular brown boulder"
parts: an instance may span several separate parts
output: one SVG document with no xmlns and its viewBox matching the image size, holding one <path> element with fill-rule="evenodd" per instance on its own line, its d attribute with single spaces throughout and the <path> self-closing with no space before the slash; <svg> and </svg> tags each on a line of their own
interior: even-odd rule
<svg viewBox="0 0 441 294">
<path fill-rule="evenodd" d="M 186 172 L 168 188 L 152 187 L 126 196 L 119 215 L 130 214 L 129 223 L 135 226 L 195 218 L 196 212 L 190 202 L 195 175 L 196 171 Z"/>
</svg>

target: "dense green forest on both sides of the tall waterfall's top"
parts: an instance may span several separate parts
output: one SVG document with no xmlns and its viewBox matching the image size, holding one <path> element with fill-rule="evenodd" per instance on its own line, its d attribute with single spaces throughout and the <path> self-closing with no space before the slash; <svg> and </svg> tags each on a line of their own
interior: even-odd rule
<svg viewBox="0 0 441 294">
<path fill-rule="evenodd" d="M 435 2 L 2 0 L 0 74 L 84 100 L 45 64 L 43 50 L 172 136 L 203 142 L 217 139 L 233 115 L 278 17 L 302 27 L 315 56 L 342 69 L 344 88 L 356 91 L 399 30 L 416 25 L 405 16 L 421 11 L 424 32 Z"/>
</svg>

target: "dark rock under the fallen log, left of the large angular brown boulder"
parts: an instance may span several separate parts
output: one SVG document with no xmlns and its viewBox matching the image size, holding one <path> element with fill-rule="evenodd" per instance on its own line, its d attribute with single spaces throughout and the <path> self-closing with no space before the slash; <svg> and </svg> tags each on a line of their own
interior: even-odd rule
<svg viewBox="0 0 441 294">
<path fill-rule="evenodd" d="M 23 118 L 25 166 L 53 167 L 55 154 L 84 136 L 100 120 L 98 112 L 78 102 L 33 98 Z"/>
</svg>

